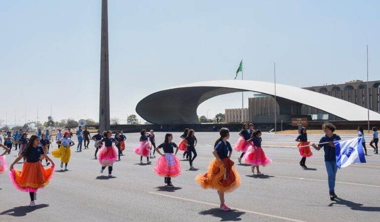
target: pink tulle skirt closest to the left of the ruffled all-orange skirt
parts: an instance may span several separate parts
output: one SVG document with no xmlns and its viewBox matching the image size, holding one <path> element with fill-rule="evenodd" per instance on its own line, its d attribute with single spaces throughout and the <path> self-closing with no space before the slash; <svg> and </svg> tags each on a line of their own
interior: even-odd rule
<svg viewBox="0 0 380 222">
<path fill-rule="evenodd" d="M 177 177 L 181 174 L 181 166 L 178 157 L 173 153 L 165 153 L 158 158 L 153 172 L 161 177 Z"/>
</svg>

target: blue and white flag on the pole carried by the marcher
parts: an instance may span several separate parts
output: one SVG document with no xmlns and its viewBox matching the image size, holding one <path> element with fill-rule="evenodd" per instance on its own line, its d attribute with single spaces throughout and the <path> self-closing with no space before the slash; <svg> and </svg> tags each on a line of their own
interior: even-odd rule
<svg viewBox="0 0 380 222">
<path fill-rule="evenodd" d="M 365 163 L 364 157 L 363 137 L 334 141 L 336 165 L 340 169 L 341 167 L 347 167 L 352 163 Z"/>
</svg>

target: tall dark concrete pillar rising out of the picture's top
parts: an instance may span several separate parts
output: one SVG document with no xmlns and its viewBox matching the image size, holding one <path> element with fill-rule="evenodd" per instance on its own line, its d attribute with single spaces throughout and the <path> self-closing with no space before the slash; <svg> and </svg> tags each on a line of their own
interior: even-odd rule
<svg viewBox="0 0 380 222">
<path fill-rule="evenodd" d="M 101 0 L 99 130 L 110 130 L 108 72 L 108 7 Z"/>
</svg>

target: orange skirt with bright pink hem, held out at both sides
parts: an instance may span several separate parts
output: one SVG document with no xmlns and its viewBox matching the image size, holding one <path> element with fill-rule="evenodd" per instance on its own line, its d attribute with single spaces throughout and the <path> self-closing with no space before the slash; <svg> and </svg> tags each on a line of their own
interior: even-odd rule
<svg viewBox="0 0 380 222">
<path fill-rule="evenodd" d="M 22 171 L 13 169 L 9 172 L 13 185 L 25 192 L 36 192 L 37 189 L 44 188 L 54 174 L 54 167 L 45 169 L 40 161 L 30 163 L 24 162 Z"/>
</svg>

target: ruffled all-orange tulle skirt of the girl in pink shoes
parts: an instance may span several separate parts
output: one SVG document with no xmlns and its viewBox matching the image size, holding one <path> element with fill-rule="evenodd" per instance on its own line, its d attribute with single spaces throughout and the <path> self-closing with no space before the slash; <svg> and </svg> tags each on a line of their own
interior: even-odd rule
<svg viewBox="0 0 380 222">
<path fill-rule="evenodd" d="M 222 161 L 212 160 L 208 165 L 208 171 L 204 175 L 197 175 L 195 181 L 204 189 L 217 189 L 224 192 L 232 192 L 241 184 L 238 171 L 234 162 L 229 158 Z"/>
</svg>

